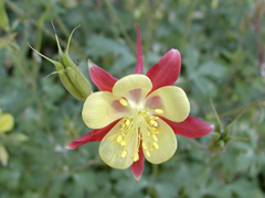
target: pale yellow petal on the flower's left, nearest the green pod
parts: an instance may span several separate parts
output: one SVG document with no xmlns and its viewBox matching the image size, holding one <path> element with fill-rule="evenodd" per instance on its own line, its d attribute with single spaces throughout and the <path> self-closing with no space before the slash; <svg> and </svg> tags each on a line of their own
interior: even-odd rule
<svg viewBox="0 0 265 198">
<path fill-rule="evenodd" d="M 92 129 L 100 129 L 125 117 L 128 109 L 119 103 L 119 99 L 108 91 L 98 91 L 88 96 L 82 110 L 85 124 Z"/>
</svg>

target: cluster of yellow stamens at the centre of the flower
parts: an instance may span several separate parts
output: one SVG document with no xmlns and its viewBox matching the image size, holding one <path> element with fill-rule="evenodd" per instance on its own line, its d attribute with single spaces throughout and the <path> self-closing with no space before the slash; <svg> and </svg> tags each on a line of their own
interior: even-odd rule
<svg viewBox="0 0 265 198">
<path fill-rule="evenodd" d="M 141 106 L 130 108 L 125 99 L 120 99 L 119 102 L 121 106 L 128 107 L 131 113 L 119 122 L 119 131 L 115 135 L 109 136 L 112 143 L 121 146 L 117 156 L 126 157 L 128 152 L 130 152 L 129 150 L 134 150 L 132 161 L 137 162 L 139 160 L 140 144 L 146 156 L 150 156 L 152 151 L 159 150 L 157 135 L 161 131 L 157 122 L 159 117 L 153 114 L 162 114 L 163 111 L 161 109 L 152 110 L 149 108 L 142 108 Z M 135 135 L 137 135 L 136 139 Z M 128 146 L 130 141 L 136 141 L 136 143 L 132 144 L 136 146 Z"/>
</svg>

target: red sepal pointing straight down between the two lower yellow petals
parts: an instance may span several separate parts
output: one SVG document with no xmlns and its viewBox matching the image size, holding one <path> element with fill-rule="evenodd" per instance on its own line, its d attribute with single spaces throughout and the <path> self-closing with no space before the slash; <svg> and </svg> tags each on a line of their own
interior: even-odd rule
<svg viewBox="0 0 265 198">
<path fill-rule="evenodd" d="M 139 161 L 134 162 L 130 166 L 130 170 L 138 183 L 141 178 L 142 170 L 144 170 L 144 165 L 145 165 L 145 156 L 142 153 L 141 144 L 139 145 Z"/>
</svg>

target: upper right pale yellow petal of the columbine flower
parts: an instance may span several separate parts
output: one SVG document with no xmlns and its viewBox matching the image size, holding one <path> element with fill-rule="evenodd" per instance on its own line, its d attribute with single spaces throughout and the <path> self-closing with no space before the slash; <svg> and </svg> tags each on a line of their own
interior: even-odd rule
<svg viewBox="0 0 265 198">
<path fill-rule="evenodd" d="M 146 107 L 161 109 L 160 114 L 173 122 L 182 122 L 190 113 L 190 102 L 186 92 L 174 86 L 161 87 L 148 96 Z"/>
</svg>

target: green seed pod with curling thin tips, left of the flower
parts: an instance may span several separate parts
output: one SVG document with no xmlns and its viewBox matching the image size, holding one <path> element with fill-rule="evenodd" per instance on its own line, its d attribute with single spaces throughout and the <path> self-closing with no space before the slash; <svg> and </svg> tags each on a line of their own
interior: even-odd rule
<svg viewBox="0 0 265 198">
<path fill-rule="evenodd" d="M 77 26 L 78 28 L 78 26 Z M 65 52 L 62 51 L 57 34 L 55 33 L 55 38 L 59 47 L 59 62 L 52 61 L 43 54 L 35 51 L 32 46 L 30 46 L 36 54 L 42 56 L 43 58 L 51 62 L 56 72 L 53 74 L 59 74 L 59 77 L 64 86 L 64 88 L 76 99 L 85 100 L 92 94 L 92 87 L 87 78 L 83 75 L 80 68 L 75 65 L 75 63 L 71 59 L 68 55 L 70 42 L 75 28 L 70 34 L 67 46 Z"/>
</svg>

